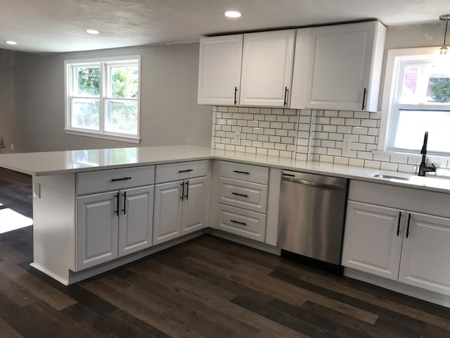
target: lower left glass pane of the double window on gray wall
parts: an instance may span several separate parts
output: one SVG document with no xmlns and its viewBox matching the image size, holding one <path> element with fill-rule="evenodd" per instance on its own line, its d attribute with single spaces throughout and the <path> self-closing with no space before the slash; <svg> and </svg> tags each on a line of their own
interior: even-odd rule
<svg viewBox="0 0 450 338">
<path fill-rule="evenodd" d="M 99 130 L 99 101 L 72 99 L 72 127 Z"/>
</svg>

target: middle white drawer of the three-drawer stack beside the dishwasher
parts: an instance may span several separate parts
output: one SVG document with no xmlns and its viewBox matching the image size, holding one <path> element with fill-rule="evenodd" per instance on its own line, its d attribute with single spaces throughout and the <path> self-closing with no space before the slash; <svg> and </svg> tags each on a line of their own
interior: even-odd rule
<svg viewBox="0 0 450 338">
<path fill-rule="evenodd" d="M 217 202 L 257 211 L 258 213 L 266 213 L 267 186 L 219 177 Z"/>
</svg>

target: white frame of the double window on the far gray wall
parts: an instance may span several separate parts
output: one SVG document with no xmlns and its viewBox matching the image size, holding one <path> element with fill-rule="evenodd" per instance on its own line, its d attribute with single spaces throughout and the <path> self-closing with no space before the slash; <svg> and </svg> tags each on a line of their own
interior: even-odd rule
<svg viewBox="0 0 450 338">
<path fill-rule="evenodd" d="M 108 81 L 110 80 L 110 72 L 107 68 L 117 65 L 135 65 L 137 63 L 139 68 L 139 81 L 138 81 L 138 98 L 135 99 L 115 99 L 110 97 L 111 93 L 108 90 Z M 71 99 L 73 97 L 73 89 L 75 88 L 75 78 L 73 68 L 83 67 L 100 67 L 101 70 L 101 83 L 100 83 L 100 96 L 99 100 L 99 130 L 89 130 L 84 128 L 72 127 L 72 104 Z M 117 56 L 109 58 L 86 58 L 78 60 L 66 60 L 64 61 L 65 69 L 65 133 L 75 134 L 86 137 L 96 137 L 100 139 L 111 139 L 114 141 L 130 142 L 139 144 L 141 142 L 141 56 Z M 77 96 L 81 97 L 81 96 Z M 85 97 L 85 99 L 93 99 L 92 97 Z M 105 114 L 106 105 L 110 101 L 137 101 L 137 134 L 125 134 L 118 132 L 105 131 Z"/>
</svg>

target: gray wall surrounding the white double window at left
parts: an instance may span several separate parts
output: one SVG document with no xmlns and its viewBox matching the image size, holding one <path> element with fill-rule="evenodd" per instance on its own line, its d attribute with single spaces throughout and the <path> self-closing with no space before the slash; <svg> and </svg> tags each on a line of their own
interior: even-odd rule
<svg viewBox="0 0 450 338">
<path fill-rule="evenodd" d="M 15 90 L 23 146 L 56 151 L 136 146 L 65 134 L 64 61 L 141 55 L 141 144 L 210 146 L 212 107 L 198 106 L 198 43 L 136 46 L 66 54 L 16 54 Z"/>
</svg>

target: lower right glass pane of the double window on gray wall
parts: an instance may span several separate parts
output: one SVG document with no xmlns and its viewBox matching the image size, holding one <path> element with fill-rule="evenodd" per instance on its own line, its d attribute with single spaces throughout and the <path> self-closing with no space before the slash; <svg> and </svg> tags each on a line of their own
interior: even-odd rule
<svg viewBox="0 0 450 338">
<path fill-rule="evenodd" d="M 138 134 L 138 104 L 136 101 L 108 101 L 105 130 L 121 134 Z"/>
</svg>

